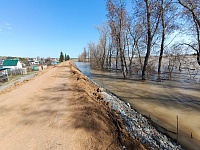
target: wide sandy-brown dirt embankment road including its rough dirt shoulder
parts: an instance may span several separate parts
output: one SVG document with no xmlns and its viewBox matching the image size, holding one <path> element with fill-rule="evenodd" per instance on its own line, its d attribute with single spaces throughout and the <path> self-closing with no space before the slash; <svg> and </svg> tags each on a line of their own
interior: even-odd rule
<svg viewBox="0 0 200 150">
<path fill-rule="evenodd" d="M 2 150 L 145 149 L 70 62 L 1 91 L 0 120 Z"/>
</svg>

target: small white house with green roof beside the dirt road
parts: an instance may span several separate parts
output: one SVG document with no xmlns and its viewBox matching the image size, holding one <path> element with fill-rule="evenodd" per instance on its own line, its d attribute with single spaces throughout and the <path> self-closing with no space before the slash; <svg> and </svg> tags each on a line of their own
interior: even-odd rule
<svg viewBox="0 0 200 150">
<path fill-rule="evenodd" d="M 19 60 L 4 60 L 3 68 L 9 68 L 11 70 L 22 69 L 22 64 Z"/>
</svg>

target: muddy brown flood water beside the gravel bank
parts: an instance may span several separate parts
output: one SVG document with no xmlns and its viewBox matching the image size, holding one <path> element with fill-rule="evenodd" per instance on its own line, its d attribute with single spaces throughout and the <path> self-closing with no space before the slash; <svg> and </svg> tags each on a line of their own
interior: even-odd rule
<svg viewBox="0 0 200 150">
<path fill-rule="evenodd" d="M 200 84 L 188 79 L 163 82 L 142 81 L 139 77 L 120 78 L 121 74 L 93 70 L 89 63 L 76 63 L 77 67 L 100 86 L 138 112 L 150 116 L 158 125 L 176 132 L 178 141 L 186 149 L 200 147 Z M 168 133 L 174 139 L 177 135 Z M 192 135 L 191 135 L 192 134 Z"/>
</svg>

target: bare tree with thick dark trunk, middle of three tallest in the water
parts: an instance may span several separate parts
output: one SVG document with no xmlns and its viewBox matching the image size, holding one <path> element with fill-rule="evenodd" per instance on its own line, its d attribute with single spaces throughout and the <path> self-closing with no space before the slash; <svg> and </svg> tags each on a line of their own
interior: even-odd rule
<svg viewBox="0 0 200 150">
<path fill-rule="evenodd" d="M 144 64 L 142 68 L 142 79 L 145 80 L 146 69 L 148 65 L 149 56 L 152 50 L 152 47 L 155 43 L 155 36 L 158 31 L 160 23 L 160 9 L 159 9 L 160 0 L 135 0 L 133 1 L 133 7 L 135 10 L 135 15 L 140 19 L 141 25 L 144 28 L 143 33 L 143 42 L 146 44 L 146 54 L 144 59 Z"/>
</svg>

